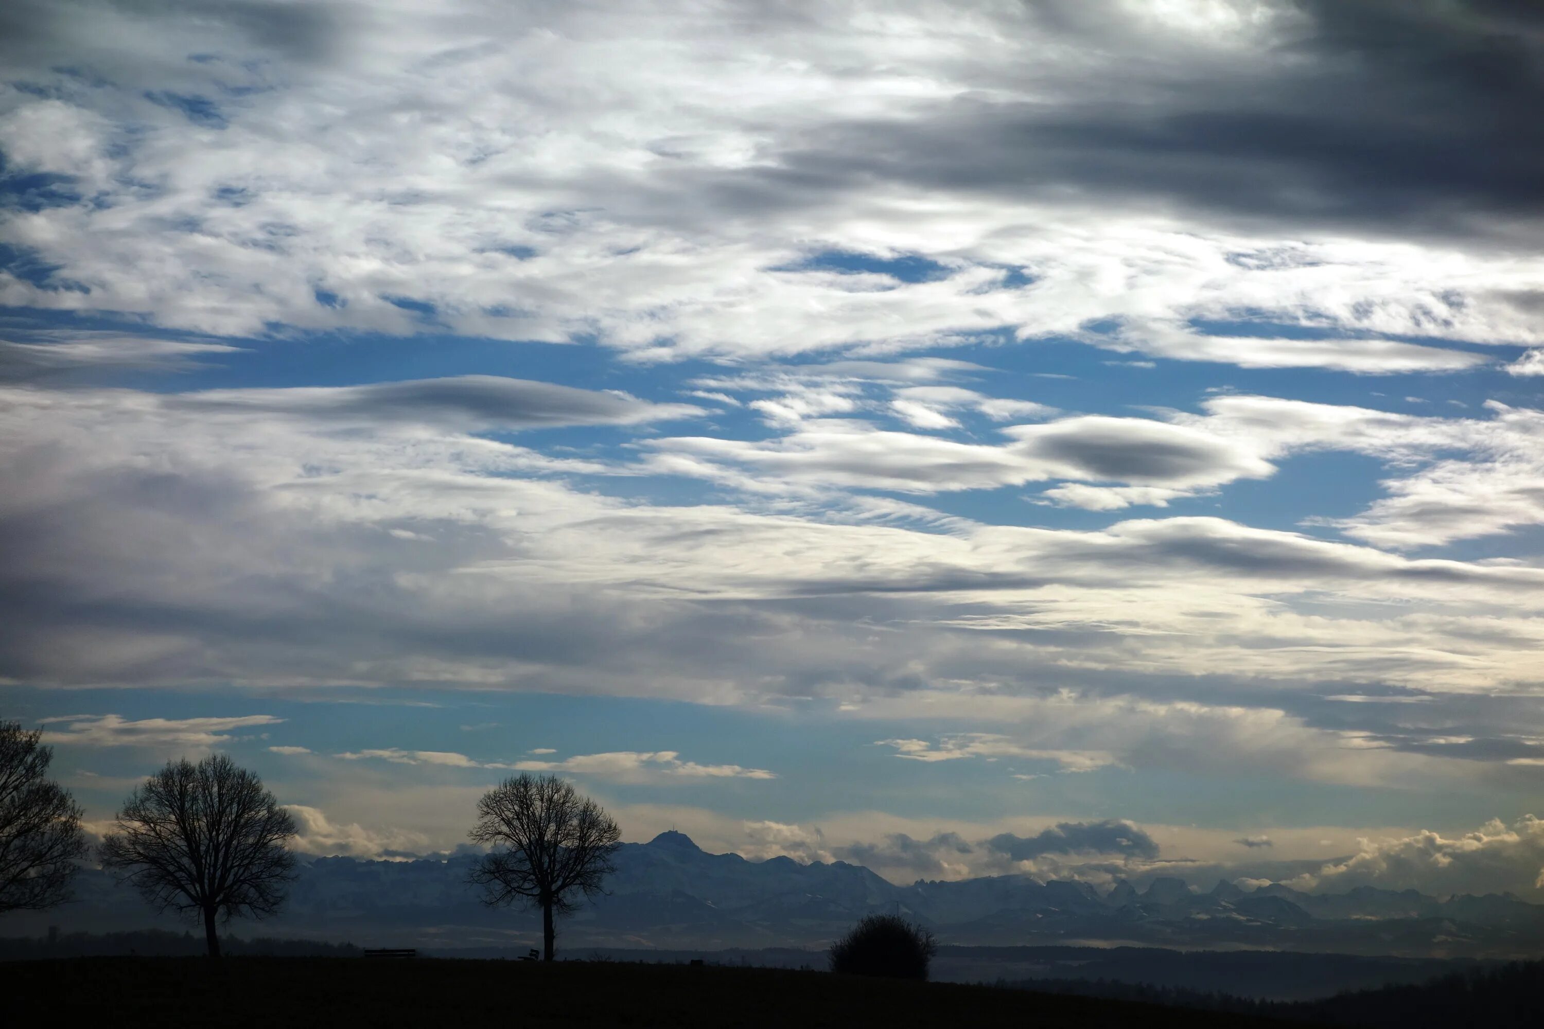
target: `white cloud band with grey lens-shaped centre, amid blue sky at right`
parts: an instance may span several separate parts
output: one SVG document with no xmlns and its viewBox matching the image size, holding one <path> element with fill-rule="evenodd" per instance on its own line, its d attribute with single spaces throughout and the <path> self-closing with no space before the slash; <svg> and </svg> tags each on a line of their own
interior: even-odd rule
<svg viewBox="0 0 1544 1029">
<path fill-rule="evenodd" d="M 937 398 L 897 400 L 894 412 L 931 429 L 953 424 L 943 412 L 973 395 L 959 387 L 920 389 Z M 909 390 L 897 392 L 903 395 Z M 1312 525 L 1403 549 L 1544 523 L 1544 463 L 1538 458 L 1544 415 L 1536 410 L 1488 401 L 1488 418 L 1442 418 L 1271 396 L 1214 396 L 1203 407 L 1201 415 L 1070 417 L 1008 426 L 1002 429 L 1008 443 L 791 413 L 784 435 L 769 440 L 652 440 L 647 466 L 761 495 L 937 494 L 1059 481 L 1041 494 L 1042 501 L 1119 511 L 1210 495 L 1238 480 L 1271 477 L 1282 460 L 1342 450 L 1383 461 L 1391 474 L 1380 486 L 1388 495 L 1349 518 Z"/>
</svg>

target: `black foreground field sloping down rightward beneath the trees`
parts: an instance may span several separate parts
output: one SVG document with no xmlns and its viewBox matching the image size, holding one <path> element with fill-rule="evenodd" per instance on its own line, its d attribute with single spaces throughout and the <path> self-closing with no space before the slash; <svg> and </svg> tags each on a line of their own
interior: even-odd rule
<svg viewBox="0 0 1544 1029">
<path fill-rule="evenodd" d="M 0 964 L 9 1024 L 119 1026 L 1282 1026 L 953 983 L 784 969 L 363 958 Z M 48 1023 L 26 1020 L 43 1015 Z"/>
</svg>

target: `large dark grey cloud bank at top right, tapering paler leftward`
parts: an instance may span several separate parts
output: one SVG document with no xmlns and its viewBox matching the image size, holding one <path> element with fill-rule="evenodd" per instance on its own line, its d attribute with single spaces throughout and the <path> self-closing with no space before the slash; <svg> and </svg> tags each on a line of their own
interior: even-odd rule
<svg viewBox="0 0 1544 1029">
<path fill-rule="evenodd" d="M 832 120 L 792 137 L 777 162 L 699 170 L 681 185 L 740 213 L 886 180 L 1294 231 L 1512 234 L 1513 219 L 1544 216 L 1544 6 L 1269 6 L 1288 17 L 1265 49 L 1220 57 L 1146 45 L 1124 5 L 1024 5 L 1002 15 L 1004 32 L 1030 22 L 1098 69 L 1058 82 L 1055 102 L 999 99 L 1036 91 L 1031 65 L 1022 80 L 960 66 L 977 91 L 899 117 Z"/>
</svg>

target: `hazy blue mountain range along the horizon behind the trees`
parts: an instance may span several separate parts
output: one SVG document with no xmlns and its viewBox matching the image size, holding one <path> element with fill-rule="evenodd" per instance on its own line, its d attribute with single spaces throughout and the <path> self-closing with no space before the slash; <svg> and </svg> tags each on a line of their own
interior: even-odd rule
<svg viewBox="0 0 1544 1029">
<path fill-rule="evenodd" d="M 284 913 L 264 935 L 347 940 L 374 947 L 522 947 L 534 915 L 483 907 L 465 884 L 471 858 L 357 861 L 320 858 L 301 869 Z M 994 876 L 896 886 L 862 865 L 746 861 L 709 855 L 681 833 L 624 844 L 610 895 L 585 904 L 559 932 L 562 946 L 824 947 L 860 916 L 899 912 L 945 944 L 1127 943 L 1156 947 L 1282 949 L 1360 955 L 1532 958 L 1544 953 L 1544 906 L 1510 895 L 1436 899 L 1413 890 L 1359 887 L 1311 895 L 1285 886 L 1207 892 L 1181 879 L 1101 895 L 1085 882 Z M 77 901 L 14 912 L 6 935 L 124 932 L 156 919 L 139 896 L 100 872 L 79 876 Z M 577 955 L 576 955 L 577 956 Z M 991 977 L 996 978 L 996 977 Z M 1011 977 L 1010 977 L 1011 978 Z"/>
</svg>

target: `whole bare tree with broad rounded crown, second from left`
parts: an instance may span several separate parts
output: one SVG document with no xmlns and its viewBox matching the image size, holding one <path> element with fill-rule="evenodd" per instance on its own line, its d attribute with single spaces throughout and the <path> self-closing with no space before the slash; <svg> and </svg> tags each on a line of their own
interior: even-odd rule
<svg viewBox="0 0 1544 1029">
<path fill-rule="evenodd" d="M 262 918 L 284 902 L 293 835 L 290 813 L 230 757 L 173 761 L 128 795 L 102 839 L 102 867 L 157 910 L 202 915 L 208 956 L 218 958 L 218 918 Z"/>
</svg>

